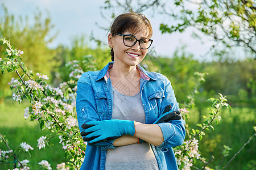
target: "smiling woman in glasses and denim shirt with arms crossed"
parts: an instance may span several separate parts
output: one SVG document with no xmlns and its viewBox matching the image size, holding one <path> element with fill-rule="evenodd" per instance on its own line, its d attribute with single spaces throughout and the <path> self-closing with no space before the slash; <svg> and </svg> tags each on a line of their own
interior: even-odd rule
<svg viewBox="0 0 256 170">
<path fill-rule="evenodd" d="M 77 119 L 89 144 L 81 169 L 177 169 L 172 147 L 183 143 L 185 122 L 156 122 L 168 106 L 179 110 L 174 91 L 166 76 L 139 66 L 151 36 L 143 14 L 119 15 L 108 36 L 112 62 L 79 79 Z"/>
</svg>

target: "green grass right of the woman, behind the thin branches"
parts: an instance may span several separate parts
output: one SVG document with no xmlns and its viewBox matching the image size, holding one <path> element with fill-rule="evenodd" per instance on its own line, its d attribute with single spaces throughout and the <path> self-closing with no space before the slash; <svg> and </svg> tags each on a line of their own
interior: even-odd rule
<svg viewBox="0 0 256 170">
<path fill-rule="evenodd" d="M 206 110 L 205 110 L 206 111 Z M 206 135 L 199 142 L 199 150 L 201 155 L 208 160 L 214 156 L 214 160 L 209 164 L 210 167 L 217 169 L 216 167 L 220 164 L 220 167 L 224 167 L 226 163 L 236 154 L 240 148 L 249 140 L 255 131 L 253 126 L 256 125 L 255 120 L 256 108 L 241 108 L 233 107 L 232 113 L 229 116 L 227 109 L 221 111 L 220 116 L 222 117 L 221 122 L 218 125 L 213 124 L 214 130 L 211 128 L 209 131 L 205 131 Z M 196 127 L 196 121 L 198 113 L 191 111 L 193 114 L 191 120 L 187 123 L 190 128 L 199 129 Z M 232 148 L 228 156 L 223 160 L 222 151 L 224 145 Z M 202 166 L 200 162 L 197 162 L 197 167 Z M 254 137 L 248 145 L 236 156 L 235 159 L 226 167 L 226 169 L 255 169 L 256 167 L 256 138 Z"/>
</svg>

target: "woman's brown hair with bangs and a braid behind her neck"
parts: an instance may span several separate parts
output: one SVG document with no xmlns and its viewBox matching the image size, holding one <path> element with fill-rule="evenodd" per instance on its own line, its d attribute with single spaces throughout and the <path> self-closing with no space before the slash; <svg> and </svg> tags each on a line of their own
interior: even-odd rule
<svg viewBox="0 0 256 170">
<path fill-rule="evenodd" d="M 118 15 L 110 27 L 110 32 L 112 33 L 113 37 L 115 36 L 115 33 L 124 33 L 125 31 L 130 31 L 135 34 L 142 30 L 147 32 L 147 37 L 150 39 L 153 33 L 150 21 L 145 15 L 134 12 L 127 12 Z M 112 61 L 114 61 L 113 48 L 111 49 L 110 55 Z"/>
</svg>

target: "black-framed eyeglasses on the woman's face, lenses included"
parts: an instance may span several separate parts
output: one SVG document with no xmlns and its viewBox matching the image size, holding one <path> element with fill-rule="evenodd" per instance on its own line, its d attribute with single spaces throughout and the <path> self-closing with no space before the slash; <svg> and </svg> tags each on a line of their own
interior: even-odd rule
<svg viewBox="0 0 256 170">
<path fill-rule="evenodd" d="M 123 44 L 125 46 L 134 46 L 137 41 L 139 41 L 139 46 L 141 46 L 142 49 L 148 49 L 150 48 L 153 40 L 151 39 L 136 39 L 135 36 L 132 35 L 123 35 L 121 33 L 115 33 L 116 35 L 123 36 Z"/>
</svg>

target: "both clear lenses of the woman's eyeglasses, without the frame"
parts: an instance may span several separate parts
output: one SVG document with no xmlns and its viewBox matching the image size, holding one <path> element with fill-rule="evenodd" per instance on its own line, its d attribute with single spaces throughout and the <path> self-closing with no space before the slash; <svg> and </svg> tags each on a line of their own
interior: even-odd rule
<svg viewBox="0 0 256 170">
<path fill-rule="evenodd" d="M 137 42 L 137 39 L 133 36 L 125 35 L 123 36 L 123 42 L 126 46 L 133 46 Z M 147 49 L 150 47 L 152 41 L 150 39 L 141 39 L 139 40 L 139 45 L 142 49 Z"/>
</svg>

